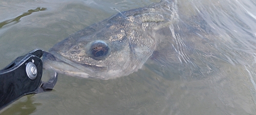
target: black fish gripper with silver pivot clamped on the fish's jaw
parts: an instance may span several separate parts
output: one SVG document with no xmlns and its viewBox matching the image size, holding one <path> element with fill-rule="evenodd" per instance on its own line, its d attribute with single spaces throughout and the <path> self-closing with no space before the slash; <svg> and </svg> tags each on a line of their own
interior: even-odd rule
<svg viewBox="0 0 256 115">
<path fill-rule="evenodd" d="M 57 82 L 57 73 L 48 82 L 41 81 L 42 54 L 45 51 L 35 49 L 16 58 L 0 70 L 0 110 L 28 94 L 37 94 L 52 90 Z"/>
</svg>

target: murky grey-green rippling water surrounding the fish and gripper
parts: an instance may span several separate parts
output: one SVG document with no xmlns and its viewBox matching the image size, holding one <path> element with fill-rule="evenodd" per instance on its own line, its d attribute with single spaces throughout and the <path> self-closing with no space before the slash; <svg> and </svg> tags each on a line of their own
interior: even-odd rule
<svg viewBox="0 0 256 115">
<path fill-rule="evenodd" d="M 158 2 L 1 1 L 0 68 L 33 49 L 48 51 L 119 11 Z M 173 58 L 152 57 L 138 72 L 111 80 L 60 74 L 53 91 L 24 96 L 0 113 L 256 114 L 256 2 L 177 4 L 179 19 L 199 30 L 170 28 L 178 28 L 172 31 Z"/>
</svg>

